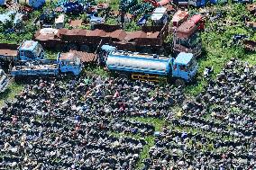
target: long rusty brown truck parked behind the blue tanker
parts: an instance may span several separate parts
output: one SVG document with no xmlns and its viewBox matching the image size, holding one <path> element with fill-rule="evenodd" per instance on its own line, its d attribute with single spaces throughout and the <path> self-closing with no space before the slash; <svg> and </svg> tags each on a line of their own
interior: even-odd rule
<svg viewBox="0 0 256 170">
<path fill-rule="evenodd" d="M 191 22 L 191 24 L 196 25 L 194 22 Z M 167 22 L 163 26 L 142 26 L 141 31 L 123 31 L 119 25 L 107 24 L 97 24 L 95 30 L 57 30 L 45 28 L 35 33 L 34 40 L 39 41 L 44 48 L 68 51 L 70 49 L 95 51 L 98 46 L 109 44 L 119 50 L 140 51 L 144 53 L 162 53 L 164 50 L 169 48 L 167 43 L 165 43 L 165 40 L 169 36 L 170 32 L 174 34 L 173 40 L 175 43 L 173 44 L 173 47 L 177 46 L 176 50 L 179 48 L 178 45 L 182 45 L 183 41 L 180 40 L 183 40 L 183 36 L 186 34 L 188 41 L 190 38 L 193 38 L 193 40 L 200 42 L 199 34 L 197 33 L 197 25 L 194 26 L 191 24 L 188 25 L 189 27 L 187 27 L 186 31 L 182 32 L 181 37 L 179 37 L 181 34 L 177 31 L 170 31 L 169 22 Z M 178 31 L 179 30 L 182 29 L 178 27 Z M 193 37 L 194 33 L 197 33 L 197 35 Z M 188 47 L 190 44 L 193 46 Z M 187 42 L 187 49 L 185 49 L 184 52 L 191 51 L 197 56 L 201 53 L 200 48 L 200 43 L 196 46 L 189 41 Z"/>
</svg>

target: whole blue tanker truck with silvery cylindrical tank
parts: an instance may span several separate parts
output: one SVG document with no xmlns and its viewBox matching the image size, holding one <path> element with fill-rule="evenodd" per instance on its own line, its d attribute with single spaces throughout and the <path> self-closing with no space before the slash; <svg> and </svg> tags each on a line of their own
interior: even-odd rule
<svg viewBox="0 0 256 170">
<path fill-rule="evenodd" d="M 114 50 L 105 61 L 106 67 L 121 76 L 133 79 L 160 81 L 160 76 L 174 80 L 176 85 L 185 85 L 197 73 L 197 60 L 191 53 L 181 52 L 177 58 L 167 58 L 156 54 L 141 54 Z"/>
</svg>

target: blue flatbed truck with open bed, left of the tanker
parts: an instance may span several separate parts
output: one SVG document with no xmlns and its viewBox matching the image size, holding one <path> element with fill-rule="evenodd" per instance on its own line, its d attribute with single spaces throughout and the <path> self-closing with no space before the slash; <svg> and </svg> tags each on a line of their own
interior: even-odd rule
<svg viewBox="0 0 256 170">
<path fill-rule="evenodd" d="M 17 76 L 57 76 L 60 73 L 78 76 L 82 70 L 81 60 L 77 56 L 58 54 L 56 60 L 42 59 L 22 62 L 11 70 Z"/>
</svg>

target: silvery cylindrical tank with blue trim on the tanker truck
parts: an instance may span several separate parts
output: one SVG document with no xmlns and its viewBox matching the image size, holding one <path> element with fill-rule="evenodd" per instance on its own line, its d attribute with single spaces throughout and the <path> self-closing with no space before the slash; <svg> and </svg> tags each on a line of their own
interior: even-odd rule
<svg viewBox="0 0 256 170">
<path fill-rule="evenodd" d="M 170 58 L 157 55 L 113 51 L 106 59 L 109 70 L 168 75 Z"/>
</svg>

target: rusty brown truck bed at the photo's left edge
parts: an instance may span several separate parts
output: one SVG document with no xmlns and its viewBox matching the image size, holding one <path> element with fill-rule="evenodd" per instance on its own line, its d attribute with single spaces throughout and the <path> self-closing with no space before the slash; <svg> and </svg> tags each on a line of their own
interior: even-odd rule
<svg viewBox="0 0 256 170">
<path fill-rule="evenodd" d="M 18 47 L 17 44 L 0 43 L 0 59 L 13 61 L 17 58 Z"/>
</svg>

